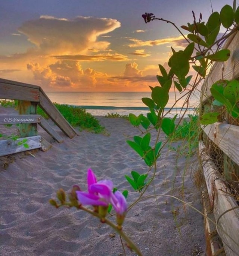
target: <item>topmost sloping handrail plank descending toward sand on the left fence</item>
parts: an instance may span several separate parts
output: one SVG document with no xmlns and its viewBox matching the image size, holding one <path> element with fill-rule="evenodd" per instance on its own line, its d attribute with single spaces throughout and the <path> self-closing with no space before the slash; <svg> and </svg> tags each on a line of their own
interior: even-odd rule
<svg viewBox="0 0 239 256">
<path fill-rule="evenodd" d="M 73 138 L 77 134 L 42 89 L 40 90 L 40 107 L 69 138 Z"/>
</svg>

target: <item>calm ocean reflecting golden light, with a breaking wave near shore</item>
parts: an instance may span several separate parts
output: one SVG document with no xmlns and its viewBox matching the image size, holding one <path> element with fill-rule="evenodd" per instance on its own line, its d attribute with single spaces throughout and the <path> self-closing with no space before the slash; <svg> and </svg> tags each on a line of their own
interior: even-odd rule
<svg viewBox="0 0 239 256">
<path fill-rule="evenodd" d="M 120 115 L 128 115 L 133 113 L 135 115 L 146 115 L 149 108 L 142 102 L 143 97 L 150 97 L 150 92 L 46 92 L 47 96 L 52 102 L 60 104 L 68 104 L 74 106 L 81 106 L 92 115 L 107 115 L 108 113 L 118 113 Z M 179 93 L 170 92 L 170 99 L 166 106 L 168 111 L 175 102 L 182 95 Z M 171 109 L 168 117 L 173 117 L 178 114 L 178 117 L 183 114 L 181 107 L 184 99 L 180 99 L 177 106 Z M 199 96 L 192 95 L 189 101 L 189 108 L 186 114 L 195 114 L 195 108 L 199 106 Z M 183 108 L 184 112 L 186 109 Z"/>
</svg>

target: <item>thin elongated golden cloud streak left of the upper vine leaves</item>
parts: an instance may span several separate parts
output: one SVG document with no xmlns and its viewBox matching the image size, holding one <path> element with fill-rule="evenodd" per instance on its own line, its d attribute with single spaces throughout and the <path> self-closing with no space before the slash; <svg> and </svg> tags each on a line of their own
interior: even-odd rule
<svg viewBox="0 0 239 256">
<path fill-rule="evenodd" d="M 168 37 L 168 38 L 162 38 L 162 39 L 156 39 L 156 40 L 139 40 L 136 38 L 131 38 L 129 39 L 131 43 L 128 46 L 129 47 L 141 47 L 141 46 L 155 46 L 155 45 L 164 45 L 166 43 L 176 43 L 176 44 L 182 44 L 183 42 L 185 43 L 185 39 L 183 36 L 178 36 L 178 37 Z"/>
</svg>

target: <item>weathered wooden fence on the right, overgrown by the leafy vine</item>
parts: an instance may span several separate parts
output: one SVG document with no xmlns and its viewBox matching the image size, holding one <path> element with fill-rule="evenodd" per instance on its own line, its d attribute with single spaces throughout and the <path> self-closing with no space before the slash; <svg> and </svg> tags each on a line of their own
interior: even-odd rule
<svg viewBox="0 0 239 256">
<path fill-rule="evenodd" d="M 239 79 L 239 33 L 233 34 L 224 48 L 230 49 L 230 58 L 225 63 L 215 63 L 205 79 L 201 94 L 202 111 L 212 107 L 210 88 L 214 82 Z M 208 256 L 222 255 L 222 250 L 227 256 L 239 255 L 239 126 L 238 120 L 235 122 L 228 114 L 225 117 L 223 123 L 202 126 L 203 134 L 199 141 L 206 181 L 203 197 L 209 202 L 206 206 L 204 201 L 204 213 L 216 223 L 212 225 L 205 218 Z M 221 246 L 212 236 L 215 230 Z"/>
</svg>

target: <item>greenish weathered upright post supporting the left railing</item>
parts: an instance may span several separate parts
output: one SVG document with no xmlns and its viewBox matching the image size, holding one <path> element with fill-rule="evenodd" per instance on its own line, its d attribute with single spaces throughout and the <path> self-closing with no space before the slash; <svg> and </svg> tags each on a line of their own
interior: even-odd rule
<svg viewBox="0 0 239 256">
<path fill-rule="evenodd" d="M 18 100 L 18 113 L 20 115 L 37 114 L 37 103 Z M 19 124 L 20 137 L 31 137 L 37 135 L 37 124 Z"/>
</svg>

